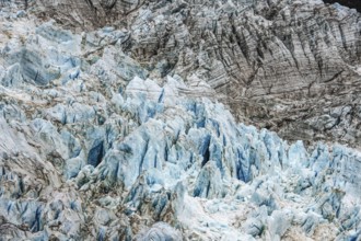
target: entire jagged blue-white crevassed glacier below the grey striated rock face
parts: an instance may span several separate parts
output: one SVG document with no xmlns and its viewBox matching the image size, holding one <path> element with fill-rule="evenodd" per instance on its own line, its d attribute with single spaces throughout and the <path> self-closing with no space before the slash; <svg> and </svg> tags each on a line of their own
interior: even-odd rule
<svg viewBox="0 0 361 241">
<path fill-rule="evenodd" d="M 9 14 L 0 240 L 361 239 L 360 150 L 237 123 L 196 74 L 127 56 L 124 31 Z"/>
</svg>

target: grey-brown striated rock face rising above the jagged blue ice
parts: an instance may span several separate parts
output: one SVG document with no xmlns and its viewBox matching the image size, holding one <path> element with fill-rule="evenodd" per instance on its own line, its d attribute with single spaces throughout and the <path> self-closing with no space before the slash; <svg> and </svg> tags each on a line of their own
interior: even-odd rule
<svg viewBox="0 0 361 241">
<path fill-rule="evenodd" d="M 361 144 L 354 10 L 311 0 L 39 2 L 69 26 L 114 19 L 128 56 L 156 78 L 196 74 L 238 120 L 290 140 Z"/>
</svg>

